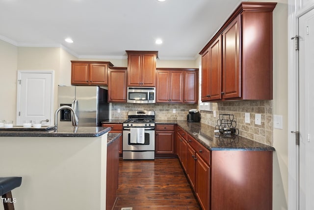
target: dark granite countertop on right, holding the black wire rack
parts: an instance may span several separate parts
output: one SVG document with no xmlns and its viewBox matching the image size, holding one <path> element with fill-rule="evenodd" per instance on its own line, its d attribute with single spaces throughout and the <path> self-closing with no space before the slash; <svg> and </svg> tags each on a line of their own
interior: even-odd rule
<svg viewBox="0 0 314 210">
<path fill-rule="evenodd" d="M 186 120 L 155 120 L 157 124 L 178 124 L 188 134 L 194 137 L 209 150 L 266 150 L 274 151 L 273 147 L 241 137 L 215 137 L 213 126 L 200 122 L 187 122 Z"/>
</svg>

